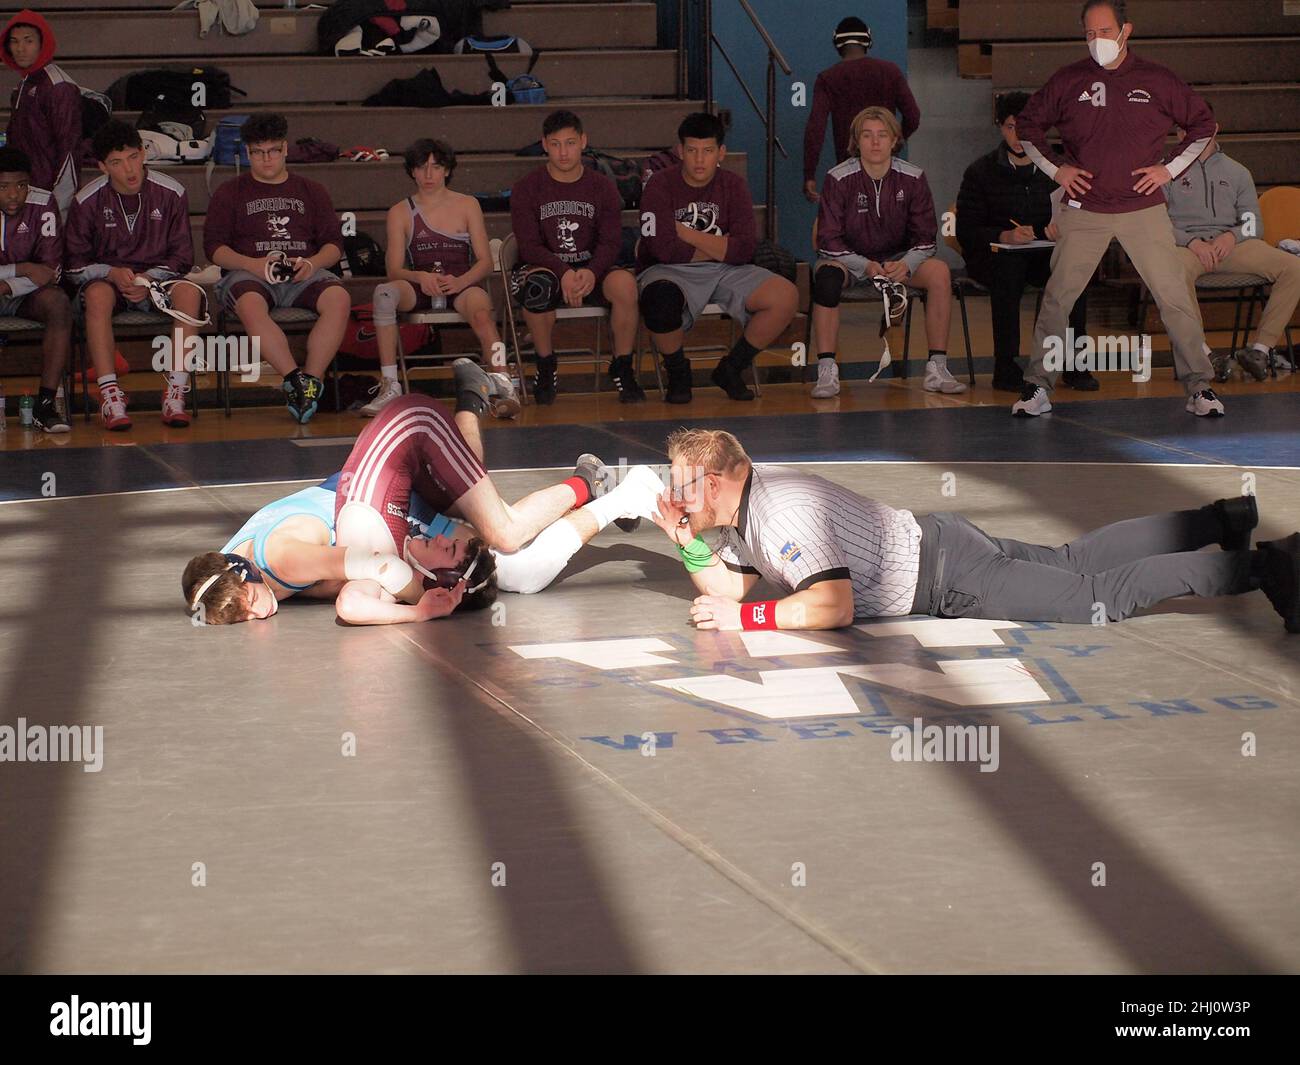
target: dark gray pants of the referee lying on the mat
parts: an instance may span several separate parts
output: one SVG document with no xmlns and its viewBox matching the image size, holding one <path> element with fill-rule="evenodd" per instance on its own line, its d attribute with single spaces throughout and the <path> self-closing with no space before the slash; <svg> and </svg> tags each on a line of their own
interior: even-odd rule
<svg viewBox="0 0 1300 1065">
<path fill-rule="evenodd" d="M 1061 547 L 998 540 L 959 514 L 916 519 L 920 573 L 913 614 L 1098 624 L 1174 596 L 1236 596 L 1249 551 L 1199 551 L 1222 536 L 1210 507 L 1117 521 Z"/>
</svg>

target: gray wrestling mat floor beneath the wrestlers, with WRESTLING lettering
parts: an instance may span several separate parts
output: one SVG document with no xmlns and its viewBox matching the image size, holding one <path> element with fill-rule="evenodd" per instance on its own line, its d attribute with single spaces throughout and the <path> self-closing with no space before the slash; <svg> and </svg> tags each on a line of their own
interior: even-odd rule
<svg viewBox="0 0 1300 1065">
<path fill-rule="evenodd" d="M 1041 542 L 1242 488 L 807 468 Z M 1260 538 L 1300 527 L 1300 473 L 1256 476 Z M 662 533 L 611 527 L 495 612 L 194 628 L 185 562 L 295 486 L 0 506 L 0 723 L 103 727 L 99 771 L 0 763 L 0 970 L 1300 967 L 1300 637 L 1258 593 L 697 633 Z M 916 718 L 998 726 L 996 771 L 896 761 Z"/>
</svg>

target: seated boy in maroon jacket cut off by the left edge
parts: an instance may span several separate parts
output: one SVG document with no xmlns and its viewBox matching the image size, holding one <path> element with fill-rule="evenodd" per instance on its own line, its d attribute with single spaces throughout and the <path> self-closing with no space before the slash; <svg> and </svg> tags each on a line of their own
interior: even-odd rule
<svg viewBox="0 0 1300 1065">
<path fill-rule="evenodd" d="M 0 317 L 32 319 L 42 335 L 40 394 L 32 420 L 46 433 L 72 427 L 55 404 L 73 339 L 73 312 L 58 287 L 64 238 L 53 198 L 31 185 L 31 160 L 0 148 Z"/>
</svg>

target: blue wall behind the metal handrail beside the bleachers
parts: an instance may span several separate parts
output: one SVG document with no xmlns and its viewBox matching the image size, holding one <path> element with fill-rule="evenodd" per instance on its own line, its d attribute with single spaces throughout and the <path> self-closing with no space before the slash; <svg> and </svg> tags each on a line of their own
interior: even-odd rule
<svg viewBox="0 0 1300 1065">
<path fill-rule="evenodd" d="M 871 27 L 874 59 L 896 62 L 907 73 L 907 4 L 906 0 L 750 0 L 750 7 L 763 21 L 776 47 L 794 70 L 792 77 L 776 70 L 776 129 L 789 152 L 789 159 L 776 153 L 777 238 L 797 259 L 809 257 L 809 235 L 816 208 L 803 199 L 803 129 L 812 108 L 812 83 L 816 75 L 838 61 L 831 44 L 836 23 L 855 14 Z M 737 0 L 714 0 L 714 34 L 744 75 L 750 91 L 764 107 L 767 83 L 767 49 L 744 8 Z M 806 86 L 805 107 L 790 105 L 790 87 L 796 81 Z M 720 108 L 729 108 L 732 129 L 727 146 L 749 155 L 749 185 L 754 202 L 763 199 L 763 124 L 725 60 L 714 52 L 714 99 Z M 831 165 L 829 124 L 818 166 L 818 182 Z"/>
</svg>

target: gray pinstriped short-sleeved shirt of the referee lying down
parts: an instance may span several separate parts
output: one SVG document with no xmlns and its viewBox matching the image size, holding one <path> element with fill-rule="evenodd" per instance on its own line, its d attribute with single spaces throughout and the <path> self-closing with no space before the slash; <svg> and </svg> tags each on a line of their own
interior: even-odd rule
<svg viewBox="0 0 1300 1065">
<path fill-rule="evenodd" d="M 920 527 L 911 511 L 780 466 L 751 467 L 737 527 L 722 529 L 728 570 L 760 573 L 788 592 L 823 580 L 853 581 L 857 618 L 911 612 L 920 567 Z"/>
</svg>

